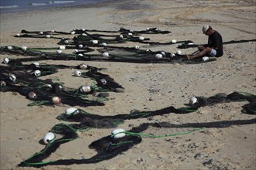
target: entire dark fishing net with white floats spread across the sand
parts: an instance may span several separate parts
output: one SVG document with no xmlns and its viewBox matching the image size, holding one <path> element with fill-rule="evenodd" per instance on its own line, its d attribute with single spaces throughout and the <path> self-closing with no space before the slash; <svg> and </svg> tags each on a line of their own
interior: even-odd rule
<svg viewBox="0 0 256 170">
<path fill-rule="evenodd" d="M 88 33 L 92 32 L 92 33 Z M 101 33 L 93 33 L 101 32 Z M 52 60 L 98 60 L 127 63 L 191 63 L 185 56 L 178 53 L 168 53 L 164 51 L 153 52 L 150 49 L 143 50 L 139 46 L 126 47 L 114 46 L 115 44 L 125 44 L 126 42 L 139 42 L 149 46 L 165 46 L 182 43 L 178 48 L 195 47 L 192 41 L 185 40 L 179 42 L 150 42 L 150 39 L 140 36 L 141 34 L 168 34 L 169 31 L 161 31 L 156 28 L 143 31 L 132 31 L 130 29 L 119 29 L 118 31 L 75 29 L 71 32 L 57 31 L 26 31 L 17 34 L 17 38 L 36 39 L 60 39 L 60 47 L 53 48 L 32 48 L 18 46 L 1 46 L 0 53 L 26 56 L 24 58 L 5 58 L 0 66 L 1 92 L 16 92 L 32 100 L 34 105 L 67 104 L 69 106 L 104 106 L 109 93 L 123 93 L 124 88 L 109 75 L 101 73 L 104 68 L 89 66 L 81 63 L 78 66 L 54 65 L 47 63 L 37 63 L 38 61 Z M 73 38 L 61 38 L 60 35 L 68 35 Z M 254 39 L 248 41 L 255 41 Z M 247 42 L 247 41 L 240 41 Z M 227 43 L 237 43 L 234 41 Z M 107 45 L 106 45 L 107 44 Z M 111 44 L 112 46 L 109 46 Z M 224 43 L 225 44 L 225 43 Z M 62 53 L 61 49 L 74 49 L 74 53 Z M 56 50 L 52 52 L 52 50 Z M 97 54 L 99 53 L 99 54 Z M 206 62 L 214 61 L 211 58 Z M 192 63 L 202 63 L 202 59 Z M 77 89 L 66 87 L 61 80 L 41 80 L 40 77 L 57 73 L 61 69 L 76 69 L 74 76 L 92 81 L 88 86 L 81 86 Z M 43 93 L 41 93 L 43 91 Z M 123 151 L 133 148 L 134 145 L 142 142 L 143 138 L 166 138 L 175 135 L 189 134 L 195 131 L 203 131 L 205 128 L 228 128 L 234 125 L 255 124 L 256 119 L 196 122 L 186 124 L 171 124 L 170 122 L 144 123 L 133 127 L 130 131 L 122 131 L 122 138 L 115 138 L 118 134 L 111 134 L 99 140 L 93 141 L 89 148 L 95 149 L 97 154 L 92 158 L 83 159 L 60 159 L 57 161 L 43 162 L 60 145 L 78 138 L 77 131 L 86 133 L 92 128 L 117 128 L 119 124 L 124 124 L 126 120 L 140 119 L 144 117 L 154 117 L 164 114 L 189 114 L 199 110 L 200 107 L 209 105 L 224 104 L 230 102 L 247 101 L 241 108 L 244 114 L 256 114 L 256 96 L 251 93 L 234 92 L 230 94 L 217 93 L 212 97 L 196 97 L 195 104 L 189 107 L 175 108 L 165 107 L 159 110 L 131 110 L 130 114 L 115 114 L 102 116 L 91 114 L 85 110 L 75 109 L 72 113 L 63 113 L 57 116 L 59 121 L 73 122 L 73 124 L 56 124 L 50 132 L 60 134 L 61 138 L 49 141 L 42 151 L 30 156 L 19 166 L 42 167 L 46 165 L 72 165 L 97 163 L 119 155 Z M 172 134 L 144 134 L 147 128 L 168 128 L 172 129 Z M 182 129 L 182 131 L 180 131 Z"/>
</svg>

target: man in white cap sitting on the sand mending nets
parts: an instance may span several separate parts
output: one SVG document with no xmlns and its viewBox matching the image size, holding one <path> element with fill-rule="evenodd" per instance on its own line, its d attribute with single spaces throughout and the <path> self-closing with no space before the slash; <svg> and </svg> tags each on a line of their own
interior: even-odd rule
<svg viewBox="0 0 256 170">
<path fill-rule="evenodd" d="M 203 56 L 223 56 L 223 41 L 219 32 L 212 29 L 211 26 L 202 26 L 202 32 L 208 37 L 208 44 L 199 45 L 198 51 L 187 54 L 188 59 L 202 58 Z"/>
</svg>

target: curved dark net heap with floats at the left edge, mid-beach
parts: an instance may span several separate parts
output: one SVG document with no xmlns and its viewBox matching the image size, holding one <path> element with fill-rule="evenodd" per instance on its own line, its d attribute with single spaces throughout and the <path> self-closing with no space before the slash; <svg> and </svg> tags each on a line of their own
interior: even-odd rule
<svg viewBox="0 0 256 170">
<path fill-rule="evenodd" d="M 116 83 L 109 75 L 99 73 L 102 68 L 88 66 L 82 63 L 78 66 L 52 65 L 46 63 L 23 64 L 11 60 L 8 66 L 0 66 L 0 91 L 17 92 L 22 96 L 34 100 L 33 105 L 68 104 L 71 106 L 103 106 L 108 100 L 109 91 L 124 92 L 124 88 Z M 53 80 L 41 80 L 40 76 L 57 73 L 58 69 L 74 68 L 76 76 L 89 78 L 90 85 L 78 87 L 78 89 L 65 87 L 64 83 Z M 81 73 L 80 70 L 87 70 Z M 58 81 L 58 80 L 57 80 Z M 94 83 L 95 82 L 95 83 Z M 98 93 L 98 96 L 95 96 Z M 88 96 L 95 96 L 94 100 L 88 100 Z"/>
</svg>

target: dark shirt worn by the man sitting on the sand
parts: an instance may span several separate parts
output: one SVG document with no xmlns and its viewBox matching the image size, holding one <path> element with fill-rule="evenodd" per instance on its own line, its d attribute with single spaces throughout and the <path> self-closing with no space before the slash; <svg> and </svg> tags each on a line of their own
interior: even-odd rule
<svg viewBox="0 0 256 170">
<path fill-rule="evenodd" d="M 223 56 L 223 41 L 222 36 L 219 32 L 213 32 L 213 34 L 208 37 L 208 46 L 209 47 L 217 47 L 216 49 L 216 57 Z"/>
</svg>

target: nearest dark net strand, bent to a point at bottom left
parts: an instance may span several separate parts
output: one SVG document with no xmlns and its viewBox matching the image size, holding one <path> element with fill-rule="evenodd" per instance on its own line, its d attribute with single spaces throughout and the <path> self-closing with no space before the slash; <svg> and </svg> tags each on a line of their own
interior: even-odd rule
<svg viewBox="0 0 256 170">
<path fill-rule="evenodd" d="M 67 124 L 57 124 L 52 128 L 51 131 L 56 132 L 54 129 L 58 129 L 57 133 L 64 136 L 61 139 L 57 139 L 52 143 L 48 143 L 47 146 L 40 152 L 30 156 L 25 161 L 21 162 L 19 166 L 33 166 L 33 167 L 43 167 L 46 165 L 72 165 L 72 164 L 90 164 L 102 162 L 110 158 L 114 158 L 116 155 L 133 148 L 142 141 L 142 138 L 166 138 L 176 135 L 185 135 L 195 131 L 201 131 L 205 128 L 227 128 L 233 125 L 244 125 L 244 124 L 255 124 L 256 119 L 251 120 L 238 120 L 238 121 L 216 121 L 216 122 L 206 122 L 206 123 L 190 123 L 190 124 L 170 124 L 168 122 L 158 122 L 158 123 L 144 123 L 137 127 L 132 128 L 130 131 L 120 131 L 116 134 L 111 134 L 103 137 L 99 140 L 93 141 L 89 148 L 95 149 L 97 154 L 92 156 L 92 158 L 84 159 L 60 159 L 57 161 L 42 162 L 44 158 L 47 158 L 52 152 L 56 151 L 57 148 L 64 142 L 74 140 L 78 138 L 75 135 L 76 129 Z M 143 134 L 141 132 L 146 131 L 147 128 L 193 128 L 189 131 L 176 132 L 173 134 Z M 88 129 L 87 129 L 88 130 Z M 87 131 L 85 129 L 85 131 Z M 115 138 L 116 135 L 122 134 L 122 138 Z M 66 140 L 64 140 L 66 138 Z"/>
</svg>

